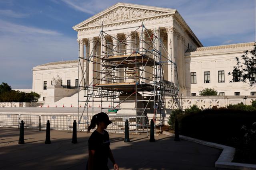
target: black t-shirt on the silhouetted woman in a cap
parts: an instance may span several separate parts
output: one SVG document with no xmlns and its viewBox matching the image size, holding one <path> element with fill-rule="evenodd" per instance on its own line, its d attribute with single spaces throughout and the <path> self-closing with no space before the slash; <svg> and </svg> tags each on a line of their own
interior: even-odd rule
<svg viewBox="0 0 256 170">
<path fill-rule="evenodd" d="M 104 134 L 94 131 L 88 140 L 88 149 L 95 150 L 93 169 L 108 169 L 108 156 L 110 141 L 107 131 Z"/>
</svg>

